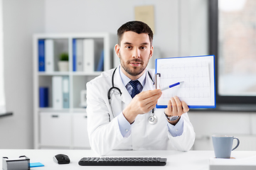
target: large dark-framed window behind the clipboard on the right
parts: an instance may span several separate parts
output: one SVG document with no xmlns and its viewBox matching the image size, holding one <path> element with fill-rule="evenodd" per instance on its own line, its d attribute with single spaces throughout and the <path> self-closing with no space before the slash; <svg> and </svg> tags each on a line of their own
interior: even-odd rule
<svg viewBox="0 0 256 170">
<path fill-rule="evenodd" d="M 255 8 L 255 0 L 209 0 L 217 103 L 256 104 Z"/>
</svg>

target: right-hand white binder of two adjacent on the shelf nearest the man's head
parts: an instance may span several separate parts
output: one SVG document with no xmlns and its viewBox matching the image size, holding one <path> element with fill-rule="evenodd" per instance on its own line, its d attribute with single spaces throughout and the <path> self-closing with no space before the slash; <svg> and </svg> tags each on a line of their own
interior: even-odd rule
<svg viewBox="0 0 256 170">
<path fill-rule="evenodd" d="M 95 72 L 95 40 L 83 40 L 83 68 L 84 72 Z"/>
</svg>

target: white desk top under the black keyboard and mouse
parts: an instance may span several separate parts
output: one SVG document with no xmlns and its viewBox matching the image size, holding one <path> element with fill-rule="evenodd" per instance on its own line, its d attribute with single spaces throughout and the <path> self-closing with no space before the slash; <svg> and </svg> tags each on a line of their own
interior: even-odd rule
<svg viewBox="0 0 256 170">
<path fill-rule="evenodd" d="M 70 164 L 56 164 L 53 162 L 55 154 L 67 154 L 70 157 Z M 0 149 L 1 157 L 17 158 L 21 155 L 31 159 L 32 162 L 41 162 L 45 166 L 32 168 L 35 170 L 41 169 L 101 169 L 102 166 L 80 166 L 79 160 L 82 157 L 99 157 L 92 150 L 57 150 L 57 149 Z M 233 151 L 232 157 L 252 157 L 256 155 L 256 151 Z M 122 166 L 125 169 L 190 169 L 190 170 L 207 170 L 209 169 L 209 159 L 214 157 L 213 151 L 112 151 L 105 157 L 166 157 L 166 166 Z M 0 168 L 2 169 L 2 161 L 0 161 Z M 121 169 L 120 166 L 105 166 L 104 169 Z"/>
</svg>

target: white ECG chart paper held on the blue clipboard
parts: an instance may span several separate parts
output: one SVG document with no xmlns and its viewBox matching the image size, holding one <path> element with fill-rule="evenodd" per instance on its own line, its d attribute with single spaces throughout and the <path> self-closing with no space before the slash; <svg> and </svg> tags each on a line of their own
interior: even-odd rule
<svg viewBox="0 0 256 170">
<path fill-rule="evenodd" d="M 162 72 L 160 87 L 168 86 L 171 82 L 184 81 L 178 89 L 164 92 L 161 98 L 210 98 L 210 72 L 207 62 L 161 64 L 159 72 Z"/>
</svg>

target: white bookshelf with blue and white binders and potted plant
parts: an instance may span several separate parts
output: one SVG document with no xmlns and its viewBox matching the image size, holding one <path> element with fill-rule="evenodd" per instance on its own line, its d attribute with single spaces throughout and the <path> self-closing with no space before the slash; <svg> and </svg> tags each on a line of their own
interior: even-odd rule
<svg viewBox="0 0 256 170">
<path fill-rule="evenodd" d="M 81 91 L 86 90 L 87 81 L 112 68 L 116 43 L 116 35 L 110 33 L 33 35 L 34 149 L 90 148 L 86 108 L 80 105 Z M 68 52 L 68 71 L 60 72 L 58 60 L 63 52 Z M 88 56 L 93 58 L 88 60 Z M 62 96 L 60 100 L 55 97 L 58 95 Z"/>
</svg>

